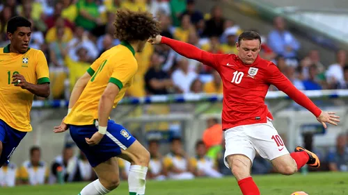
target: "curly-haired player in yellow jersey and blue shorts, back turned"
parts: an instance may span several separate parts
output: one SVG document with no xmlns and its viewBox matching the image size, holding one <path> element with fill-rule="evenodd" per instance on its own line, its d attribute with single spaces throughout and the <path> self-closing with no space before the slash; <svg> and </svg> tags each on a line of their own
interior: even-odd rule
<svg viewBox="0 0 348 195">
<path fill-rule="evenodd" d="M 145 194 L 145 177 L 150 161 L 149 152 L 128 130 L 109 119 L 112 108 L 132 85 L 138 69 L 134 58 L 148 38 L 159 34 L 159 23 L 149 12 L 118 10 L 115 37 L 121 44 L 102 53 L 86 74 L 77 80 L 70 96 L 68 115 L 54 132 L 70 128 L 70 135 L 93 167 L 98 180 L 90 183 L 80 195 L 107 194 L 120 183 L 118 162 L 131 162 L 129 194 Z"/>
</svg>

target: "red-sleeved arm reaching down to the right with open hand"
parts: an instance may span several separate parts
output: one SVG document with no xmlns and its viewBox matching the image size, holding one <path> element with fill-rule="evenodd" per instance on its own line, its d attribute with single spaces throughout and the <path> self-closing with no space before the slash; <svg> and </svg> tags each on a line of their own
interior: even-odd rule
<svg viewBox="0 0 348 195">
<path fill-rule="evenodd" d="M 276 65 L 269 65 L 269 76 L 268 82 L 283 91 L 285 94 L 290 96 L 296 103 L 302 105 L 304 108 L 317 117 L 317 120 L 326 128 L 326 123 L 337 126 L 337 122 L 340 122 L 340 117 L 335 115 L 335 112 L 324 112 L 311 101 L 308 96 L 298 90 L 284 74 L 282 74 Z"/>
</svg>

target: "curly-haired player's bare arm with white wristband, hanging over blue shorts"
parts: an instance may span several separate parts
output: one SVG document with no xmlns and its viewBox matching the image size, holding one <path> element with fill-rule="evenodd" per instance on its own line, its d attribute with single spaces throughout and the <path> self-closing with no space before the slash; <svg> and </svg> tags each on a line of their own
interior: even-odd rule
<svg viewBox="0 0 348 195">
<path fill-rule="evenodd" d="M 99 144 L 102 137 L 106 134 L 109 116 L 113 108 L 113 101 L 118 92 L 120 92 L 120 88 L 114 83 L 109 83 L 100 97 L 98 106 L 98 131 L 90 139 L 86 138 L 86 142 L 90 146 Z"/>
</svg>

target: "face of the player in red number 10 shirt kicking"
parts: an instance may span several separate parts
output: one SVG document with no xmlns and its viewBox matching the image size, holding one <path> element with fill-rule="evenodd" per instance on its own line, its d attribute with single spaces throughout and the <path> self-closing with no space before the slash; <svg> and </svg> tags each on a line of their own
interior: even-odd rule
<svg viewBox="0 0 348 195">
<path fill-rule="evenodd" d="M 251 65 L 258 57 L 260 52 L 259 40 L 241 40 L 240 44 L 237 43 L 238 57 L 246 65 Z"/>
</svg>

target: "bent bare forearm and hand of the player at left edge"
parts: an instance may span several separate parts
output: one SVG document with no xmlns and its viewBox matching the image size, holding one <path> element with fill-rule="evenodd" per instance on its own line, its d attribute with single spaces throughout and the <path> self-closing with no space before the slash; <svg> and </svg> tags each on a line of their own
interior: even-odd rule
<svg viewBox="0 0 348 195">
<path fill-rule="evenodd" d="M 28 90 L 32 94 L 40 97 L 47 98 L 49 96 L 49 83 L 33 84 L 26 81 L 23 75 L 14 74 L 12 76 L 12 84 L 15 84 L 17 87 L 22 87 L 24 90 Z"/>
</svg>

